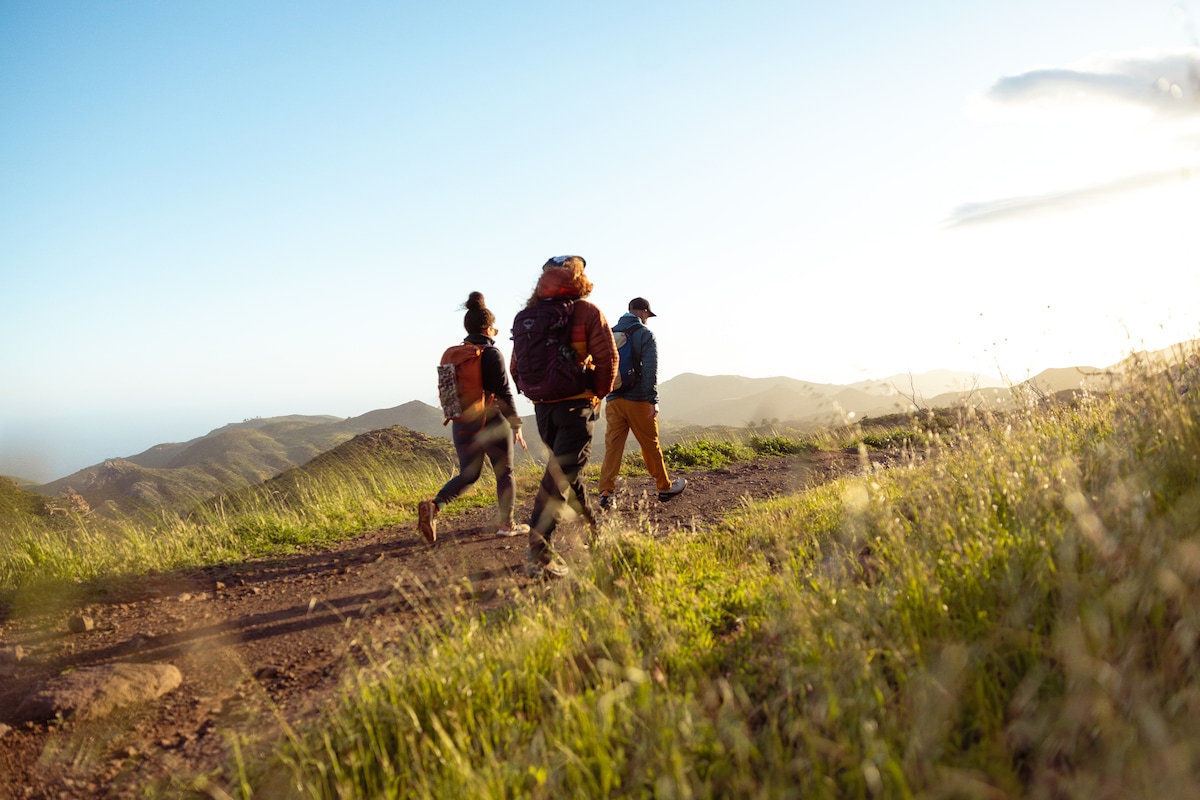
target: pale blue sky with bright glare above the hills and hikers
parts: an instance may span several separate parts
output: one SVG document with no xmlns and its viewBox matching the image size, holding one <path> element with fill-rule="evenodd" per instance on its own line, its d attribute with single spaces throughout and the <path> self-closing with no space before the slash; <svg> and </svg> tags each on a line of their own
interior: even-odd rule
<svg viewBox="0 0 1200 800">
<path fill-rule="evenodd" d="M 0 474 L 436 403 L 468 293 L 562 253 L 661 379 L 1194 338 L 1195 12 L 2 4 Z"/>
</svg>

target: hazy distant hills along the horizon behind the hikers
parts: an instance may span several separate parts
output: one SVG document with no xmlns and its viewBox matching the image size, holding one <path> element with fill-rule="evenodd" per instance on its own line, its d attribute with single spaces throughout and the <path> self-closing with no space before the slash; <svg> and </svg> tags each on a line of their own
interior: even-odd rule
<svg viewBox="0 0 1200 800">
<path fill-rule="evenodd" d="M 1194 347 L 1196 342 L 1186 343 Z M 1177 348 L 1140 353 L 1111 367 L 1046 369 L 1015 389 L 1052 396 L 1081 389 L 1104 390 L 1136 360 L 1170 362 Z M 918 408 L 972 403 L 996 409 L 1014 404 L 1014 387 L 997 378 L 935 371 L 893 375 L 842 386 L 794 378 L 745 378 L 684 373 L 659 385 L 664 437 L 706 427 L 809 427 L 845 425 Z M 532 420 L 529 420 L 532 422 Z M 72 491 L 92 509 L 133 512 L 178 509 L 222 492 L 266 481 L 335 450 L 353 437 L 391 427 L 449 438 L 438 408 L 410 401 L 360 416 L 288 415 L 245 420 L 185 443 L 160 444 L 134 456 L 108 459 L 42 486 L 41 495 Z M 534 431 L 530 425 L 528 431 Z M 529 437 L 527 437 L 529 438 Z M 536 433 L 532 452 L 540 453 Z M 594 458 L 604 450 L 604 415 L 596 426 Z"/>
</svg>

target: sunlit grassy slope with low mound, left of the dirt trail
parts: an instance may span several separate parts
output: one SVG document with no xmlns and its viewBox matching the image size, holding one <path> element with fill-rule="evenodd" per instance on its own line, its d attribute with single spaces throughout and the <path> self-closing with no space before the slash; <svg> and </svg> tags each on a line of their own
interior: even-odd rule
<svg viewBox="0 0 1200 800">
<path fill-rule="evenodd" d="M 449 440 L 394 427 L 181 512 L 113 518 L 0 481 L 0 597 L 36 602 L 38 589 L 86 591 L 148 570 L 242 560 L 408 522 L 455 465 Z M 61 513 L 41 512 L 47 503 Z"/>
</svg>

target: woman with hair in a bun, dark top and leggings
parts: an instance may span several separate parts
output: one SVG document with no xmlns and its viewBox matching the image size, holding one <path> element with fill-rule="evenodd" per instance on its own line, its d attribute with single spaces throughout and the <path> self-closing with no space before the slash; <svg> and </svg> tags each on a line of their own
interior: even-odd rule
<svg viewBox="0 0 1200 800">
<path fill-rule="evenodd" d="M 517 414 L 516 404 L 512 402 L 512 389 L 509 386 L 509 375 L 504 369 L 504 356 L 496 348 L 494 336 L 499 332 L 496 327 L 496 315 L 488 309 L 484 301 L 484 295 L 472 291 L 464 303 L 467 313 L 462 318 L 462 325 L 467 329 L 467 338 L 463 344 L 474 348 L 450 348 L 443 356 L 443 362 L 456 349 L 466 349 L 467 356 L 474 351 L 478 368 L 473 378 L 478 383 L 475 395 L 475 410 L 464 410 L 462 415 L 450 420 L 450 437 L 454 440 L 455 452 L 458 455 L 458 474 L 446 481 L 432 500 L 421 500 L 416 507 L 416 525 L 425 536 L 425 541 L 431 545 L 438 536 L 438 515 L 446 504 L 470 488 L 484 473 L 484 458 L 492 463 L 492 471 L 496 473 L 496 499 L 499 505 L 499 522 L 497 534 L 500 536 L 517 536 L 528 534 L 529 525 L 516 524 L 512 519 L 512 504 L 515 499 L 515 487 L 512 480 L 512 452 L 514 443 L 527 450 L 524 437 L 521 434 L 521 415 Z M 480 391 L 481 387 L 481 391 Z"/>
</svg>

